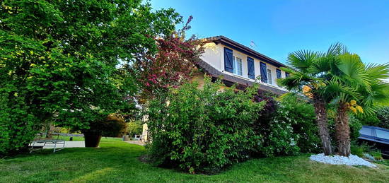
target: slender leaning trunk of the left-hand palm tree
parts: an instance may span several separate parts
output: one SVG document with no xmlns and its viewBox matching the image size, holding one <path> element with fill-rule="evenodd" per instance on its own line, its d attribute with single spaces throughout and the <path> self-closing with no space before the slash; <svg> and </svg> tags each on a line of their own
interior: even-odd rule
<svg viewBox="0 0 389 183">
<path fill-rule="evenodd" d="M 314 95 L 313 105 L 315 106 L 316 122 L 318 123 L 319 136 L 322 141 L 324 154 L 331 155 L 332 146 L 330 134 L 328 134 L 327 111 L 325 110 L 325 102 L 323 99 Z"/>
</svg>

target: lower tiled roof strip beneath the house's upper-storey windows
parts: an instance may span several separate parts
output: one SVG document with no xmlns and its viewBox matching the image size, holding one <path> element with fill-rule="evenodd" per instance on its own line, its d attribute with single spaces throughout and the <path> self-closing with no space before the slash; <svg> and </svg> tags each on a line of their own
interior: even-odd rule
<svg viewBox="0 0 389 183">
<path fill-rule="evenodd" d="M 252 81 L 248 81 L 248 80 L 245 80 L 243 78 L 231 76 L 229 74 L 218 71 L 217 69 L 215 69 L 213 66 L 208 64 L 206 61 L 203 61 L 202 59 L 199 59 L 199 61 L 197 61 L 196 65 L 200 70 L 209 74 L 214 79 L 219 78 L 219 76 L 222 76 L 223 83 L 225 83 L 227 86 L 231 86 L 231 85 L 237 83 L 238 84 L 237 88 L 245 88 L 248 85 L 254 84 L 254 82 L 252 82 Z M 286 93 L 286 91 L 284 91 L 284 90 L 280 90 L 278 88 L 273 88 L 269 85 L 263 85 L 261 83 L 260 83 L 260 90 L 266 90 L 266 91 L 269 91 L 269 92 L 274 93 L 276 95 L 282 95 L 282 94 Z"/>
</svg>

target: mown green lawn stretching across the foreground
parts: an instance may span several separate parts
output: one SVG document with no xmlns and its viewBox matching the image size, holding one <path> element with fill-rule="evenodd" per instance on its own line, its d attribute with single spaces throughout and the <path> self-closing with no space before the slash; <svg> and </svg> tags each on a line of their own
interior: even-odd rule
<svg viewBox="0 0 389 183">
<path fill-rule="evenodd" d="M 0 160 L 0 182 L 387 182 L 389 166 L 324 165 L 309 155 L 263 158 L 219 175 L 189 175 L 141 163 L 144 147 L 102 138 L 100 148 L 67 148 Z"/>
</svg>

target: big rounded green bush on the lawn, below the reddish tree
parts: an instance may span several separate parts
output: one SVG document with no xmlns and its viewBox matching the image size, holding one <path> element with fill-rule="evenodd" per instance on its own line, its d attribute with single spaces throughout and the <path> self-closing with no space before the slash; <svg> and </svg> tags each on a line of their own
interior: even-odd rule
<svg viewBox="0 0 389 183">
<path fill-rule="evenodd" d="M 173 89 L 168 101 L 150 102 L 149 153 L 155 165 L 177 165 L 191 173 L 219 172 L 249 158 L 261 136 L 252 126 L 264 102 L 253 102 L 254 90 L 227 88 L 206 78 L 204 89 L 186 83 Z"/>
</svg>

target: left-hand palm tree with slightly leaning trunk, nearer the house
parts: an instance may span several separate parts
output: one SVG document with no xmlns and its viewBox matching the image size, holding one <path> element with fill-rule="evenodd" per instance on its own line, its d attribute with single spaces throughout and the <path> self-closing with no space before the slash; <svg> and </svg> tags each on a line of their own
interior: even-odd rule
<svg viewBox="0 0 389 183">
<path fill-rule="evenodd" d="M 318 62 L 330 59 L 326 55 L 330 55 L 329 53 L 333 52 L 332 49 L 330 48 L 325 54 L 308 50 L 289 54 L 287 59 L 289 68 L 281 69 L 291 74 L 289 77 L 277 81 L 279 85 L 286 87 L 291 92 L 304 93 L 312 98 L 319 136 L 325 155 L 332 154 L 332 146 L 327 127 L 327 110 L 325 108 L 327 101 L 320 96 L 320 90 L 324 86 L 325 78 L 323 76 L 325 75 L 322 71 L 318 71 L 320 69 Z M 308 90 L 303 91 L 303 88 L 308 88 Z"/>
</svg>

